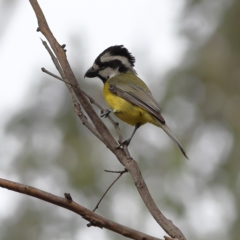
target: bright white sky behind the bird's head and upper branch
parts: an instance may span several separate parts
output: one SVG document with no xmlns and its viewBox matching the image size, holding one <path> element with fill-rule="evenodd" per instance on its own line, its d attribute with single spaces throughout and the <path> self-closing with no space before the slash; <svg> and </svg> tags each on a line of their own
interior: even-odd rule
<svg viewBox="0 0 240 240">
<path fill-rule="evenodd" d="M 151 83 L 151 79 L 145 79 L 146 76 L 164 76 L 168 70 L 178 65 L 188 47 L 178 33 L 183 0 L 42 0 L 39 3 L 53 34 L 61 44 L 67 45 L 69 56 L 76 51 L 71 44 L 72 37 L 77 36 L 81 41 L 84 50 L 81 68 L 86 70 L 104 49 L 124 44 L 136 57 L 139 76 L 146 83 Z M 52 65 L 40 41 L 44 37 L 36 29 L 36 17 L 29 2 L 19 1 L 14 18 L 0 42 L 0 144 L 7 120 L 18 108 L 31 101 L 26 99 L 30 89 L 34 91 L 40 85 L 39 75 L 44 74 L 40 69 Z M 70 63 L 73 61 L 71 58 L 68 60 Z M 191 164 L 194 165 L 194 162 Z M 0 177 L 4 177 L 3 172 L 0 174 Z M 0 189 L 1 191 L 5 190 Z M 9 195 L 0 195 L 0 206 L 6 206 L 0 208 L 0 216 L 4 216 L 8 204 L 11 204 L 14 211 L 14 203 L 10 201 L 15 201 L 17 197 L 15 194 L 15 198 L 9 200 Z M 197 201 L 201 201 L 201 204 L 198 205 Z M 222 222 L 217 220 L 225 215 L 221 212 L 221 203 L 216 205 L 218 201 L 216 195 L 209 193 L 203 199 L 192 202 L 187 214 L 192 218 L 191 227 L 199 230 L 199 234 L 202 230 L 197 229 L 199 219 L 209 220 L 205 222 L 206 234 L 222 226 Z M 222 203 L 227 201 L 231 199 Z M 211 208 L 210 216 L 207 208 Z M 137 212 L 136 210 L 136 214 Z M 211 228 L 208 223 L 213 221 L 215 225 Z M 159 228 L 156 227 L 154 232 L 154 224 L 154 220 L 149 221 L 149 229 L 152 234 L 159 235 Z M 91 229 L 90 236 L 82 232 L 79 234 L 82 234 L 81 237 L 84 235 L 85 240 L 93 239 L 95 231 L 99 237 L 99 231 L 95 228 Z M 100 234 L 104 239 L 104 232 Z"/>
</svg>

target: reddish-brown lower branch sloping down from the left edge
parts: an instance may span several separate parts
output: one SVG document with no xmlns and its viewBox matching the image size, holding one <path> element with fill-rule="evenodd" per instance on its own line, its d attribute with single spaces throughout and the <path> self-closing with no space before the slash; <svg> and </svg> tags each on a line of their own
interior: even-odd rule
<svg viewBox="0 0 240 240">
<path fill-rule="evenodd" d="M 102 216 L 92 212 L 91 210 L 77 204 L 73 200 L 69 201 L 69 198 L 58 197 L 48 192 L 41 191 L 37 188 L 12 182 L 12 181 L 8 181 L 2 178 L 0 178 L 0 187 L 7 188 L 8 190 L 12 190 L 15 192 L 23 193 L 28 196 L 41 199 L 45 202 L 49 202 L 54 205 L 60 206 L 62 208 L 66 208 L 82 216 L 85 220 L 89 221 L 91 226 L 106 228 L 131 239 L 160 240 L 159 238 L 149 236 L 145 233 L 141 233 L 139 231 L 133 230 L 131 228 L 125 227 L 121 224 L 118 224 L 116 222 L 103 218 Z"/>
</svg>

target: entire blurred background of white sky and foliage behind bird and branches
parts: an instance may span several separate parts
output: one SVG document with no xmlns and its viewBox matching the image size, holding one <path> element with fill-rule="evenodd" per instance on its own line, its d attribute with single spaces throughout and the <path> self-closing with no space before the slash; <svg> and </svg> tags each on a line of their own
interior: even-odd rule
<svg viewBox="0 0 240 240">
<path fill-rule="evenodd" d="M 240 1 L 39 1 L 81 87 L 101 103 L 102 82 L 83 79 L 97 55 L 124 44 L 136 57 L 163 116 L 185 147 L 142 127 L 129 150 L 158 207 L 194 240 L 240 235 Z M 63 196 L 93 209 L 122 170 L 78 120 L 66 86 L 36 32 L 28 1 L 0 1 L 0 178 Z M 98 110 L 97 110 L 98 111 Z M 104 122 L 117 134 L 107 119 Z M 120 122 L 120 121 L 118 121 Z M 120 122 L 125 137 L 133 128 Z M 0 189 L 1 240 L 124 239 L 87 228 L 78 215 Z M 98 214 L 162 238 L 130 174 L 106 195 Z"/>
</svg>

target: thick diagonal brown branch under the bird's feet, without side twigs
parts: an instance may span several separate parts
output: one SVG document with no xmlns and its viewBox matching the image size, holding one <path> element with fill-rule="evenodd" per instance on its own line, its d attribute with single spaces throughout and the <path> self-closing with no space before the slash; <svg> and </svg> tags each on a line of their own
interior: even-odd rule
<svg viewBox="0 0 240 240">
<path fill-rule="evenodd" d="M 41 33 L 48 40 L 54 54 L 56 55 L 61 65 L 61 69 L 63 70 L 65 75 L 63 79 L 67 79 L 73 85 L 78 85 L 78 82 L 74 76 L 74 73 L 67 61 L 66 52 L 53 36 L 37 0 L 29 0 L 29 1 L 33 7 L 33 10 L 38 20 L 38 30 L 41 31 Z M 115 141 L 115 139 L 113 138 L 113 136 L 111 135 L 111 133 L 109 132 L 105 124 L 99 118 L 98 114 L 94 111 L 87 97 L 82 93 L 81 88 L 80 87 L 72 88 L 71 85 L 68 85 L 68 86 L 70 88 L 70 91 L 74 91 L 77 97 L 77 100 L 81 104 L 81 107 L 85 110 L 85 112 L 93 122 L 96 130 L 99 132 L 99 134 L 103 138 L 104 144 L 106 144 L 106 146 L 116 155 L 120 163 L 130 172 L 139 194 L 141 195 L 146 207 L 148 208 L 149 212 L 152 214 L 154 219 L 172 238 L 178 238 L 179 240 L 186 240 L 186 238 L 184 237 L 180 229 L 177 228 L 172 223 L 172 221 L 167 219 L 161 213 L 161 211 L 157 208 L 157 205 L 152 199 L 147 189 L 146 183 L 142 178 L 142 174 L 140 172 L 138 164 L 129 155 L 127 147 L 124 147 L 124 149 L 117 148 L 118 143 Z"/>
</svg>

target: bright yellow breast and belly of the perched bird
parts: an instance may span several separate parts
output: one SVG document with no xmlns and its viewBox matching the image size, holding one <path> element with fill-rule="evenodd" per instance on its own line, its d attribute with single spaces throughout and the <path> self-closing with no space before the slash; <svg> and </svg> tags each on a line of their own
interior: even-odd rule
<svg viewBox="0 0 240 240">
<path fill-rule="evenodd" d="M 157 124 L 155 118 L 146 110 L 127 102 L 123 98 L 109 91 L 109 85 L 106 82 L 103 88 L 103 94 L 106 103 L 113 110 L 113 113 L 122 121 L 135 126 L 137 123 L 143 125 L 147 122 Z M 158 125 L 158 124 L 157 124 Z"/>
</svg>

